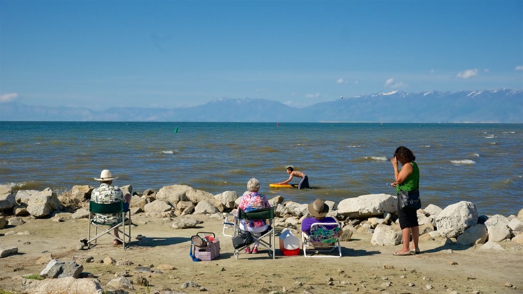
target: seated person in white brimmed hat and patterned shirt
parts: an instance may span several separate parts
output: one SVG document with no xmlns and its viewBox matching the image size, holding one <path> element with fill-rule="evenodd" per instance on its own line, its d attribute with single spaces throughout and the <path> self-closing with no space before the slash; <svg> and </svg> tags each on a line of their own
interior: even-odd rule
<svg viewBox="0 0 523 294">
<path fill-rule="evenodd" d="M 100 187 L 95 188 L 91 193 L 91 201 L 96 203 L 114 203 L 125 201 L 123 204 L 123 210 L 129 209 L 129 203 L 131 203 L 131 194 L 127 193 L 123 195 L 122 190 L 117 186 L 112 185 L 112 180 L 118 177 L 113 177 L 109 169 L 104 169 L 100 173 L 99 178 L 94 178 L 100 182 Z M 100 223 L 114 223 L 121 221 L 122 216 L 120 213 L 115 214 L 101 214 L 97 213 L 94 217 L 96 222 Z M 120 238 L 118 230 L 115 229 L 114 234 L 116 238 Z M 122 242 L 118 239 L 114 240 L 115 245 L 121 245 Z"/>
</svg>

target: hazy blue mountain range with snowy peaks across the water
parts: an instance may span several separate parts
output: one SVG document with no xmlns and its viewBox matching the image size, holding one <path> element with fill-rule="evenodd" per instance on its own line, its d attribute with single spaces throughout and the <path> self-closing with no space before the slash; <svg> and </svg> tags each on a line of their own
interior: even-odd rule
<svg viewBox="0 0 523 294">
<path fill-rule="evenodd" d="M 394 91 L 295 108 L 266 99 L 216 99 L 188 108 L 87 108 L 0 104 L 5 121 L 518 122 L 523 90 Z"/>
</svg>

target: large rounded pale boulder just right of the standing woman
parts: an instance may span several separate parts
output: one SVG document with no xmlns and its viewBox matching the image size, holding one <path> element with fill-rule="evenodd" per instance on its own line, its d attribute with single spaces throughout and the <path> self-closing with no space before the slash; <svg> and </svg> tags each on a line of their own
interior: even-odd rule
<svg viewBox="0 0 523 294">
<path fill-rule="evenodd" d="M 476 206 L 469 201 L 449 205 L 436 217 L 437 230 L 445 238 L 457 238 L 476 223 Z"/>
</svg>

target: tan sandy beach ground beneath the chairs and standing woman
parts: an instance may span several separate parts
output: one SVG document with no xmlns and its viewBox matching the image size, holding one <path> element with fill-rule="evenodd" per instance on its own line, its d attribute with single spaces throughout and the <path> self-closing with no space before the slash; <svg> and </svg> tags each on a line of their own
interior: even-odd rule
<svg viewBox="0 0 523 294">
<path fill-rule="evenodd" d="M 177 230 L 169 220 L 147 219 L 144 213 L 133 216 L 133 243 L 126 251 L 113 246 L 110 236 L 103 236 L 90 250 L 77 250 L 79 240 L 87 236 L 87 219 L 54 222 L 27 217 L 25 224 L 7 225 L 0 230 L 0 234 L 19 233 L 0 236 L 3 247 L 18 247 L 18 254 L 0 258 L 0 289 L 20 293 L 22 276 L 39 274 L 47 263 L 37 264 L 38 259 L 51 253 L 62 261 L 71 261 L 78 255 L 93 256 L 95 262 L 81 263 L 83 272 L 92 273 L 104 289 L 108 289 L 106 285 L 116 272 L 129 270 L 135 288 L 129 293 L 523 292 L 523 251 L 516 242 L 499 243 L 506 251 L 485 251 L 479 249 L 481 245 L 442 245 L 442 239 L 420 240 L 422 253 L 393 256 L 401 245 L 372 245 L 371 234 L 355 231 L 351 241 L 342 242 L 341 258 L 305 258 L 301 251 L 299 256 L 281 256 L 277 250 L 273 260 L 266 250 L 261 250 L 257 255 L 242 253 L 236 260 L 231 239 L 221 233 L 220 220 L 202 214 L 190 217 L 203 223 L 195 229 Z M 217 234 L 221 247 L 218 259 L 193 262 L 189 257 L 190 237 L 199 231 Z M 134 240 L 138 234 L 144 236 L 140 245 Z M 107 256 L 133 265 L 100 263 Z M 161 264 L 175 269 L 154 273 Z M 153 273 L 134 273 L 138 265 L 153 265 Z M 138 276 L 149 280 L 149 292 L 137 284 Z M 189 281 L 199 286 L 182 289 Z"/>
</svg>

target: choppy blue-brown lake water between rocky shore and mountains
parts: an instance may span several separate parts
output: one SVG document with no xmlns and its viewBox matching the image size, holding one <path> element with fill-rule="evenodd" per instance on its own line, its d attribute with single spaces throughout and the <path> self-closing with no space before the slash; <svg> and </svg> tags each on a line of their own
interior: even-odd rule
<svg viewBox="0 0 523 294">
<path fill-rule="evenodd" d="M 176 131 L 178 128 L 178 131 Z M 423 206 L 471 201 L 480 214 L 523 208 L 523 125 L 444 123 L 0 122 L 0 184 L 71 189 L 98 183 L 147 188 L 183 184 L 306 203 L 395 194 L 390 159 L 413 150 Z M 293 165 L 314 189 L 275 189 Z M 294 179 L 292 183 L 298 183 Z"/>
</svg>

